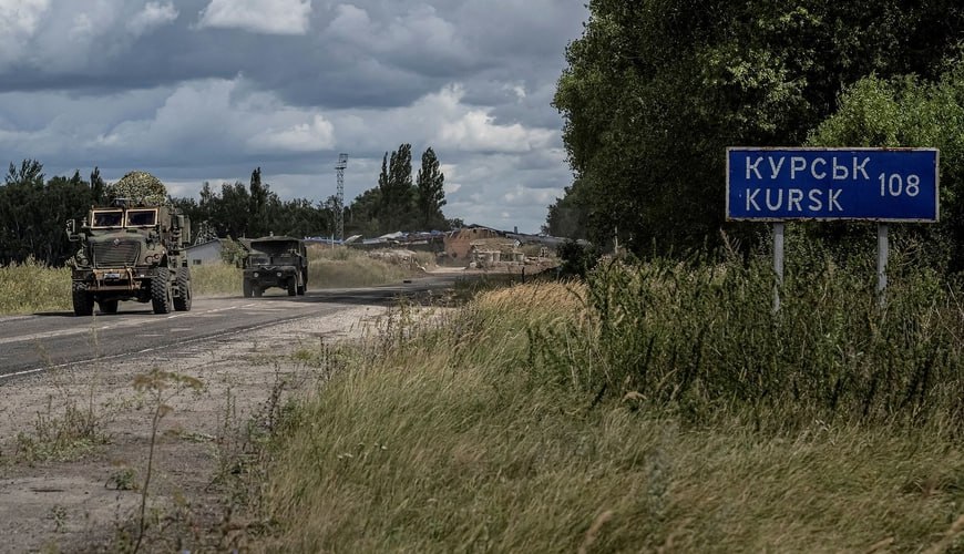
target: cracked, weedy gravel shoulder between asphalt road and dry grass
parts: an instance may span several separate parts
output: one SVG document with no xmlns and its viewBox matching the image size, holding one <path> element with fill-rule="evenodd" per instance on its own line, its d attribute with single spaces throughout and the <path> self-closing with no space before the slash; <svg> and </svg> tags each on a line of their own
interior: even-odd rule
<svg viewBox="0 0 964 554">
<path fill-rule="evenodd" d="M 316 365 L 290 356 L 299 345 L 371 334 L 383 314 L 383 308 L 346 306 L 335 316 L 223 337 L 177 352 L 88 363 L 2 384 L 0 552 L 113 551 L 119 543 L 130 544 L 132 522 L 140 521 L 152 438 L 150 533 L 142 551 L 238 546 L 238 522 L 225 505 L 218 479 L 232 471 L 225 465 L 224 452 L 230 448 L 226 441 L 238 440 L 238 429 L 269 413 L 278 393 L 298 393 L 324 378 Z M 298 345 L 293 346 L 291 337 Z M 139 376 L 152 370 L 201 384 L 193 390 L 183 381 L 167 383 L 163 403 L 171 411 L 156 431 L 152 422 L 158 402 L 134 387 Z M 91 425 L 92 440 L 50 449 L 54 431 L 68 427 L 71 418 Z M 31 448 L 43 455 L 27 455 Z M 152 542 L 152 536 L 164 541 Z"/>
</svg>

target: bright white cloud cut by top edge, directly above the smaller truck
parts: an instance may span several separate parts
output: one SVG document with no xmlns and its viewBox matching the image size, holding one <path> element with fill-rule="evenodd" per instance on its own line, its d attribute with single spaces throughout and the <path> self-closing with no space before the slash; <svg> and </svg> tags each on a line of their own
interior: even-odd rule
<svg viewBox="0 0 964 554">
<path fill-rule="evenodd" d="M 211 0 L 201 28 L 243 29 L 264 34 L 305 34 L 311 0 Z"/>
</svg>

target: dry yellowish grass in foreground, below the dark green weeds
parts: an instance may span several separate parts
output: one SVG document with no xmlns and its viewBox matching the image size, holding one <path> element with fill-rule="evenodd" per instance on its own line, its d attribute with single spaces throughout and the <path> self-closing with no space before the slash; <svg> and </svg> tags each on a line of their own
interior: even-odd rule
<svg viewBox="0 0 964 554">
<path fill-rule="evenodd" d="M 581 296 L 575 286 L 517 286 L 416 337 L 388 328 L 396 339 L 380 340 L 380 352 L 289 412 L 264 514 L 279 524 L 261 547 L 964 547 L 964 452 L 941 425 L 811 421 L 761 433 L 736 414 L 694 424 L 584 391 L 560 379 L 565 368 L 534 367 L 527 343 L 534 325 L 586 318 Z"/>
</svg>

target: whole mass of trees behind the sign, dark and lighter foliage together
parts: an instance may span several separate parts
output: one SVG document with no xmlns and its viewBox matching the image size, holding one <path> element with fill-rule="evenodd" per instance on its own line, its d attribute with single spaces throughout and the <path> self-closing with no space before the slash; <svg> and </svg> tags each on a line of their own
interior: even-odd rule
<svg viewBox="0 0 964 554">
<path fill-rule="evenodd" d="M 727 146 L 941 150 L 941 223 L 894 226 L 964 268 L 964 7 L 945 0 L 592 0 L 554 105 L 574 181 L 553 235 L 680 255 L 751 248 L 725 219 Z M 720 232 L 724 233 L 720 233 Z M 801 224 L 847 244 L 871 226 Z"/>
</svg>

